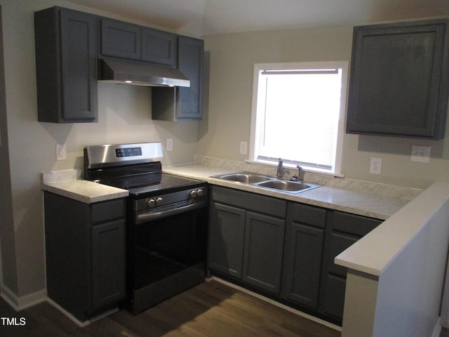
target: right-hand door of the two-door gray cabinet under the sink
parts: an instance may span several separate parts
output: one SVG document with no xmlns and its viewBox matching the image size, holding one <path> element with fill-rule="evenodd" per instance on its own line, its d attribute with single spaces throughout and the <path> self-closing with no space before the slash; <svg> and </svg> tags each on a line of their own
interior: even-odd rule
<svg viewBox="0 0 449 337">
<path fill-rule="evenodd" d="M 286 221 L 260 213 L 246 213 L 243 281 L 279 294 Z"/>
</svg>

